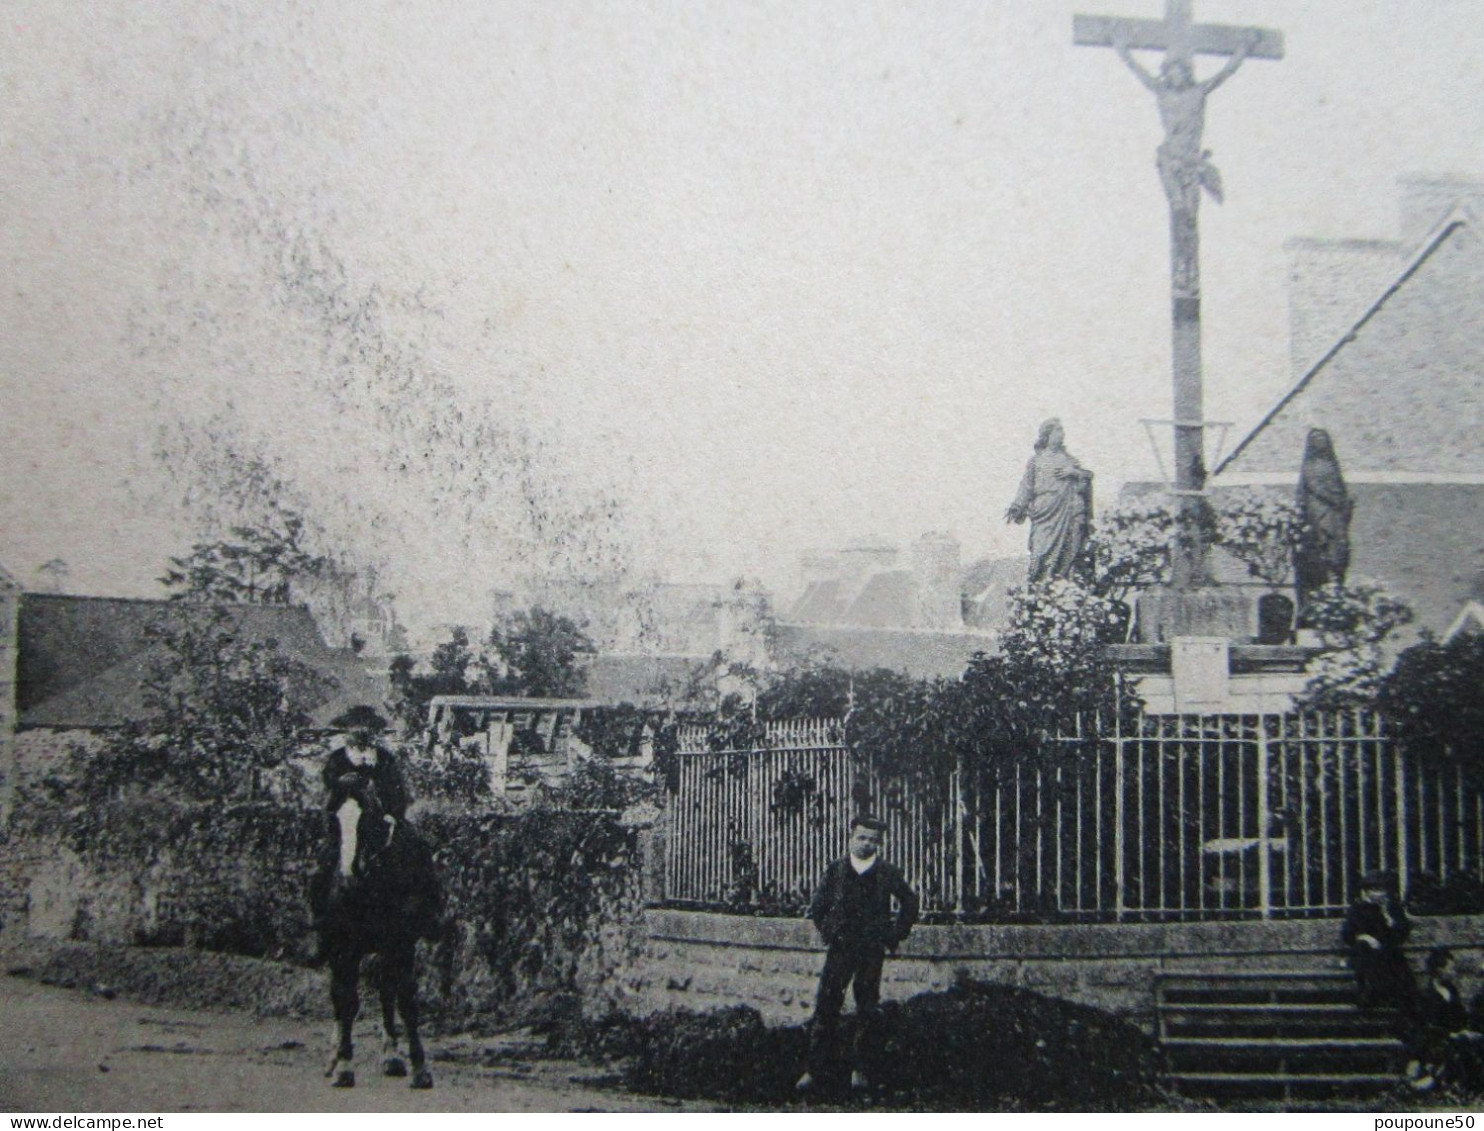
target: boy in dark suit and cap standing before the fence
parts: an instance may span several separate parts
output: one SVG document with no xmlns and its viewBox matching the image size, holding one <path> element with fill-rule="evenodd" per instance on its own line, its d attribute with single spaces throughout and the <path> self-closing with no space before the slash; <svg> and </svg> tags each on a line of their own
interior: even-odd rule
<svg viewBox="0 0 1484 1131">
<path fill-rule="evenodd" d="M 855 984 L 856 1033 L 850 1048 L 850 1088 L 867 1086 L 865 1054 L 876 1039 L 877 1005 L 881 1000 L 881 963 L 917 922 L 917 894 L 902 873 L 881 859 L 886 822 L 858 816 L 850 824 L 850 852 L 825 868 L 809 905 L 809 917 L 825 945 L 825 968 L 819 972 L 815 1017 L 809 1026 L 809 1070 L 798 1091 L 815 1086 L 834 1048 L 846 987 Z M 893 913 L 892 899 L 898 910 Z"/>
</svg>

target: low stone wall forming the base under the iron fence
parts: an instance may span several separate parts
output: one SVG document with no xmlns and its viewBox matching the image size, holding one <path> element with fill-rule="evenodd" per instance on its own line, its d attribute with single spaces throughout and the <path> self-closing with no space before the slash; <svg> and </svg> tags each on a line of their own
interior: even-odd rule
<svg viewBox="0 0 1484 1131">
<path fill-rule="evenodd" d="M 824 947 L 803 919 L 646 911 L 649 942 L 625 980 L 623 1008 L 754 1006 L 769 1024 L 813 1011 Z M 889 957 L 881 996 L 944 990 L 960 975 L 1082 1002 L 1150 1026 L 1159 974 L 1343 971 L 1339 920 L 1241 923 L 1088 923 L 1076 926 L 919 926 Z M 1434 945 L 1459 954 L 1460 986 L 1478 989 L 1484 916 L 1416 919 L 1408 953 L 1420 971 Z"/>
</svg>

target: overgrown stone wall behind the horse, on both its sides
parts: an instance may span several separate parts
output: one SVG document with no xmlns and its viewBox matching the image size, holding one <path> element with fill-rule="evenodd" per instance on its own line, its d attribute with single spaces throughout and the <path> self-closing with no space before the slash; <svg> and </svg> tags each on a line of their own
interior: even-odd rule
<svg viewBox="0 0 1484 1131">
<path fill-rule="evenodd" d="M 565 812 L 426 812 L 417 824 L 447 910 L 424 950 L 430 1012 L 460 1024 L 554 997 L 611 1008 L 616 974 L 644 944 L 634 827 Z M 319 810 L 270 803 L 22 804 L 0 843 L 4 932 L 303 963 L 324 827 Z"/>
</svg>

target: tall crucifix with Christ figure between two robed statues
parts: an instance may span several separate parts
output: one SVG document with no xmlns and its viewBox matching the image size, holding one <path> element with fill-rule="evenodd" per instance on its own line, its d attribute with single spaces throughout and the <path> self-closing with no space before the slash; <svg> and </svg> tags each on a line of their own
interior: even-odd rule
<svg viewBox="0 0 1484 1131">
<path fill-rule="evenodd" d="M 1221 200 L 1221 177 L 1211 150 L 1201 147 L 1206 98 L 1247 59 L 1281 59 L 1284 37 L 1266 28 L 1193 24 L 1192 0 L 1165 0 L 1163 19 L 1074 16 L 1071 42 L 1113 47 L 1125 65 L 1155 95 L 1165 141 L 1155 153 L 1159 181 L 1169 197 L 1171 344 L 1174 362 L 1175 497 L 1180 503 L 1171 582 L 1177 591 L 1196 589 L 1205 571 L 1205 414 L 1201 395 L 1201 245 L 1196 214 L 1201 193 Z M 1135 50 L 1163 50 L 1158 74 L 1147 71 Z M 1195 56 L 1220 55 L 1226 64 L 1209 79 L 1196 80 Z"/>
</svg>

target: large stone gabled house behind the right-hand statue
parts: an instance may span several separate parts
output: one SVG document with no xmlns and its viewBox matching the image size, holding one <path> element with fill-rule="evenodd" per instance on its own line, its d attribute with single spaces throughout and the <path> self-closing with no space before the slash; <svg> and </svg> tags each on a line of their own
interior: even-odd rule
<svg viewBox="0 0 1484 1131">
<path fill-rule="evenodd" d="M 1211 490 L 1293 490 L 1309 429 L 1355 502 L 1350 577 L 1442 634 L 1484 594 L 1484 186 L 1402 183 L 1402 239 L 1290 243 L 1293 386 Z"/>
</svg>

